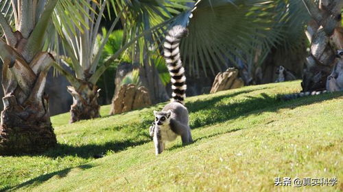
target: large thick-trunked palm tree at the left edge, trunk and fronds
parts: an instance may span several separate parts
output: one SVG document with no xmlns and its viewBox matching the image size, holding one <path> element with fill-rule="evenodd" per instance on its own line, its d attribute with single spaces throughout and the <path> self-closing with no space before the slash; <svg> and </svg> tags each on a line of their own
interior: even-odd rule
<svg viewBox="0 0 343 192">
<path fill-rule="evenodd" d="M 69 5 L 69 0 L 0 2 L 4 92 L 0 154 L 40 152 L 56 145 L 49 96 L 44 93 L 47 72 L 55 60 L 43 45 L 51 16 Z M 78 16 L 73 14 L 69 18 Z"/>
</svg>

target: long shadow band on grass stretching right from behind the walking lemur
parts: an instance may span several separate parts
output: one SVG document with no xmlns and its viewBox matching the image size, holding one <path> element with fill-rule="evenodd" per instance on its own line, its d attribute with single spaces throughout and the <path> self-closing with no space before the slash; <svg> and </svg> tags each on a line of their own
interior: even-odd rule
<svg viewBox="0 0 343 192">
<path fill-rule="evenodd" d="M 246 92 L 237 92 L 246 94 Z M 303 105 L 310 105 L 323 100 L 330 100 L 343 96 L 343 92 L 334 92 L 321 94 L 318 96 L 307 96 L 289 101 L 283 101 L 268 94 L 259 94 L 257 96 L 244 96 L 244 98 L 232 98 L 230 95 L 217 96 L 211 100 L 197 100 L 187 103 L 190 111 L 190 126 L 192 129 L 202 126 L 209 126 L 227 120 L 233 120 L 241 116 L 252 113 L 261 113 L 265 111 L 278 111 L 279 109 L 294 109 Z"/>
</svg>

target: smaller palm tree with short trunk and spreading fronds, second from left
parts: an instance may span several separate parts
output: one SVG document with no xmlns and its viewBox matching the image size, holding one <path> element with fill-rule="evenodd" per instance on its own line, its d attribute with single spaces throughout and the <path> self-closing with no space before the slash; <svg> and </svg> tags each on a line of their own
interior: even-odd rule
<svg viewBox="0 0 343 192">
<path fill-rule="evenodd" d="M 71 57 L 71 66 L 75 71 L 74 76 L 60 65 L 54 65 L 71 83 L 71 86 L 68 87 L 73 96 L 70 122 L 99 117 L 99 104 L 97 103 L 99 89 L 96 85 L 99 77 L 128 48 L 135 50 L 134 53 L 137 53 L 137 50 L 142 53 L 141 45 L 146 46 L 146 42 L 150 42 L 149 40 L 156 36 L 156 33 L 157 35 L 161 34 L 159 30 L 162 30 L 162 27 L 171 18 L 169 12 L 176 12 L 171 7 L 167 8 L 167 5 L 169 5 L 167 1 L 133 1 L 128 3 L 128 1 L 124 0 L 101 0 L 98 2 L 91 1 L 90 3 L 91 8 L 83 6 L 82 12 L 89 15 L 84 16 L 84 23 L 86 23 L 84 27 L 78 29 L 73 25 L 69 25 L 63 29 L 56 28 L 63 42 L 64 50 Z M 173 5 L 178 5 L 178 3 Z M 103 37 L 101 44 L 95 46 L 99 24 L 104 18 L 106 7 L 115 10 L 116 18 Z M 182 8 L 182 5 L 179 5 L 179 7 Z M 59 17 L 56 20 L 62 22 Z M 104 64 L 98 66 L 108 37 L 119 20 L 123 25 L 125 34 L 121 47 Z"/>
</svg>

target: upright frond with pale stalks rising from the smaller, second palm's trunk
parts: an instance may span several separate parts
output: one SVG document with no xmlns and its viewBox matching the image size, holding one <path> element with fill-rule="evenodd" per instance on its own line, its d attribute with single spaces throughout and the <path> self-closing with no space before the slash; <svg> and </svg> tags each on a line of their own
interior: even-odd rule
<svg viewBox="0 0 343 192">
<path fill-rule="evenodd" d="M 65 54 L 71 57 L 71 66 L 78 79 L 89 76 L 93 61 L 101 54 L 93 54 L 93 50 L 105 6 L 106 1 L 90 0 L 60 1 L 60 7 L 56 6 L 56 14 L 52 18 L 54 29 Z M 75 16 L 69 18 L 71 14 Z"/>
</svg>

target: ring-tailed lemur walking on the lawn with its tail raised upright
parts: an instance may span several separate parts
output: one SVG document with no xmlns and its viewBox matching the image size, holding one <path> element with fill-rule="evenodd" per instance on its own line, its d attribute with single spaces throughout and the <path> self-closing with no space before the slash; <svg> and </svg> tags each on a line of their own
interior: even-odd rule
<svg viewBox="0 0 343 192">
<path fill-rule="evenodd" d="M 162 111 L 154 111 L 155 122 L 150 126 L 150 135 L 154 137 L 156 155 L 163 152 L 165 141 L 174 141 L 181 136 L 182 144 L 193 142 L 189 128 L 189 114 L 184 105 L 186 97 L 185 68 L 180 59 L 179 44 L 187 29 L 180 25 L 172 27 L 165 37 L 164 57 L 171 76 L 171 96 L 173 97 Z"/>
</svg>

